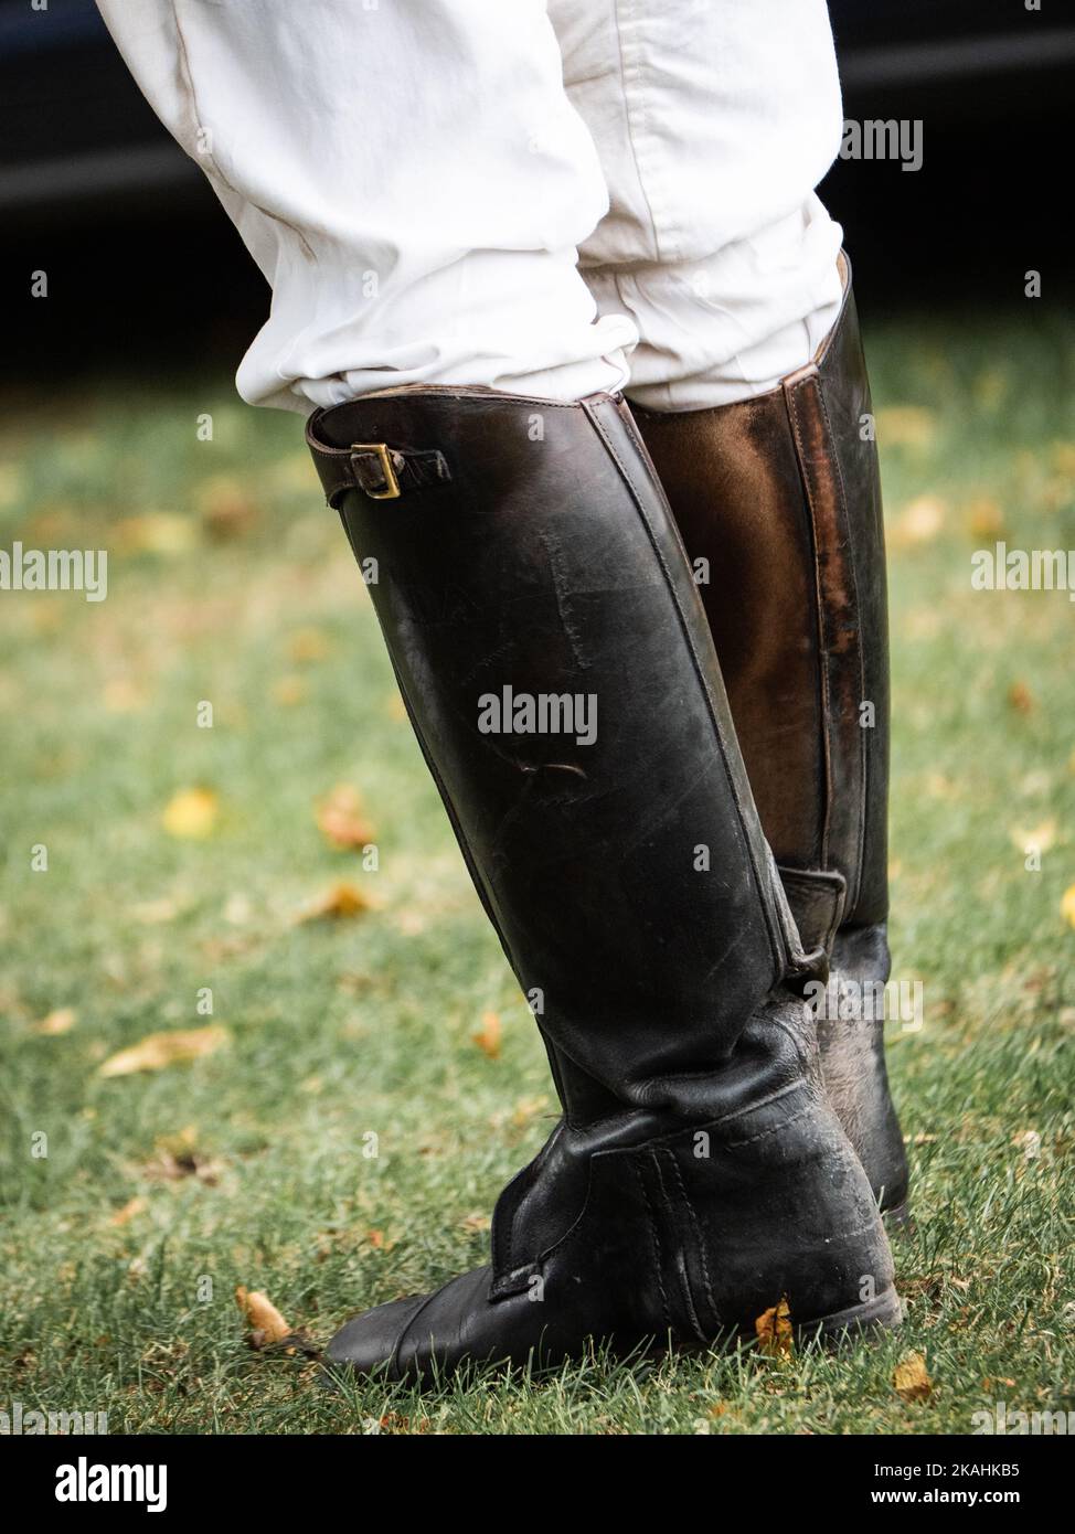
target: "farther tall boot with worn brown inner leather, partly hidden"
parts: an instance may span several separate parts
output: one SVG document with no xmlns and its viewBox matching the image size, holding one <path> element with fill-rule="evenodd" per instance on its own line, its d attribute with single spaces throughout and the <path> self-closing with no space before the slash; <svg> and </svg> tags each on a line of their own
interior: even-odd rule
<svg viewBox="0 0 1075 1534">
<path fill-rule="evenodd" d="M 903 1137 L 883 1017 L 870 1016 L 883 1008 L 866 1000 L 889 974 L 885 534 L 840 262 L 839 319 L 779 388 L 718 410 L 635 414 L 690 558 L 708 566 L 695 565 L 699 591 L 804 945 L 831 956 L 825 1085 L 882 1209 L 902 1223 Z"/>
</svg>

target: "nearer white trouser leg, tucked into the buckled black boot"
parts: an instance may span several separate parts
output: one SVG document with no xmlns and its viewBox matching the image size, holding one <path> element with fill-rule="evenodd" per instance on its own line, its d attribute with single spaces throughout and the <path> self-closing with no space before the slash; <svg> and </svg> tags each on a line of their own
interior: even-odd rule
<svg viewBox="0 0 1075 1534">
<path fill-rule="evenodd" d="M 244 399 L 620 387 L 575 247 L 607 195 L 544 0 L 98 0 L 273 290 Z"/>
</svg>

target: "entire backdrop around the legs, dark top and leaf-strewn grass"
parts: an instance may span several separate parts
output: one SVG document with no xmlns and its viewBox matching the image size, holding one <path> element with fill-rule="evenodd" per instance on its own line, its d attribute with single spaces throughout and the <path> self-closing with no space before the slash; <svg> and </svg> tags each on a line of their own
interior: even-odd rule
<svg viewBox="0 0 1075 1534">
<path fill-rule="evenodd" d="M 851 1361 L 374 1391 L 376 1431 L 966 1433 L 1001 1385 L 1075 1408 L 1075 606 L 971 586 L 998 540 L 1075 551 L 1075 21 L 831 11 L 845 117 L 923 123 L 920 170 L 822 187 L 885 485 L 894 976 L 925 1000 L 889 1029 L 908 1324 Z M 301 420 L 235 394 L 267 288 L 90 0 L 0 0 L 0 548 L 109 554 L 104 601 L 0 592 L 0 1405 L 353 1431 L 302 1358 L 242 1345 L 233 1290 L 324 1339 L 485 1261 L 555 1114 L 543 1051 Z"/>
</svg>

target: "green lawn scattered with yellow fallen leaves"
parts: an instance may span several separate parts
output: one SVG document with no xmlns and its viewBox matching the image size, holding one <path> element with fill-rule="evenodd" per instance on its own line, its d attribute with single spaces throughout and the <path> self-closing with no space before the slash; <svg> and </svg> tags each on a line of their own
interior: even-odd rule
<svg viewBox="0 0 1075 1534">
<path fill-rule="evenodd" d="M 997 538 L 1075 548 L 1075 322 L 868 339 L 893 946 L 925 986 L 925 1026 L 891 1051 L 919 1213 L 897 1249 L 905 1327 L 837 1356 L 598 1358 L 425 1397 L 325 1391 L 308 1359 L 245 1345 L 239 1284 L 324 1342 L 483 1261 L 555 1100 L 299 422 L 244 410 L 225 379 L 103 387 L 52 396 L 49 426 L 9 402 L 0 431 L 0 546 L 110 549 L 103 603 L 0 592 L 0 1407 L 104 1410 L 113 1433 L 966 1433 L 1001 1399 L 1075 1408 L 1072 606 L 971 589 Z M 377 871 L 317 828 L 342 782 Z M 170 836 L 192 787 L 216 796 L 210 834 Z M 294 920 L 340 879 L 371 910 Z M 41 1032 L 63 1009 L 51 1028 L 71 1026 Z M 474 1042 L 486 1012 L 495 1058 Z M 100 1074 L 147 1034 L 213 1023 L 227 1042 L 193 1063 Z M 912 1351 L 932 1390 L 905 1401 Z"/>
</svg>

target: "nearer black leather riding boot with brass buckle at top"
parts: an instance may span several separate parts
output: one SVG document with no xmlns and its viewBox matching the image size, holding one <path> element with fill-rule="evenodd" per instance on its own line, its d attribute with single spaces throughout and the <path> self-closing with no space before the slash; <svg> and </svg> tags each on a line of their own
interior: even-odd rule
<svg viewBox="0 0 1075 1534">
<path fill-rule="evenodd" d="M 308 439 L 564 1115 L 488 1267 L 350 1321 L 390 1378 L 894 1324 L 870 1184 L 682 545 L 623 400 L 405 388 Z"/>
</svg>

